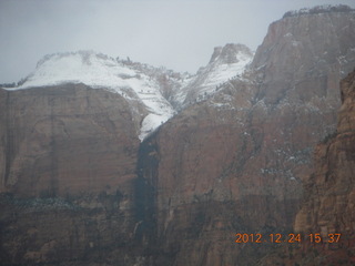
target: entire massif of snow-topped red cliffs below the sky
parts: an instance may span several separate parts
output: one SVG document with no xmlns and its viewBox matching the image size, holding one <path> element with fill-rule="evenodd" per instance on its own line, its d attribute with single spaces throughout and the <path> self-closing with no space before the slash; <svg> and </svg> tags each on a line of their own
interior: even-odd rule
<svg viewBox="0 0 355 266">
<path fill-rule="evenodd" d="M 87 52 L 45 58 L 28 83 L 0 90 L 1 262 L 253 265 L 274 244 L 235 234 L 292 231 L 303 182 L 296 229 L 354 229 L 353 78 L 338 88 L 355 65 L 354 23 L 344 9 L 285 16 L 250 64 L 246 47 L 226 44 L 195 76 Z M 63 60 L 82 80 L 57 79 Z M 55 82 L 37 83 L 41 73 Z M 180 112 L 161 125 L 165 108 Z M 321 181 L 331 200 L 313 196 Z"/>
</svg>

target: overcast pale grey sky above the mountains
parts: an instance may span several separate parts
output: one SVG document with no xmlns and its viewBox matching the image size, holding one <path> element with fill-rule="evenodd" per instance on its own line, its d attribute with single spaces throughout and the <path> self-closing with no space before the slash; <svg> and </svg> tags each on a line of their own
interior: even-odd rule
<svg viewBox="0 0 355 266">
<path fill-rule="evenodd" d="M 354 0 L 0 0 L 0 83 L 48 53 L 94 50 L 194 73 L 213 48 L 256 50 L 288 10 Z"/>
</svg>

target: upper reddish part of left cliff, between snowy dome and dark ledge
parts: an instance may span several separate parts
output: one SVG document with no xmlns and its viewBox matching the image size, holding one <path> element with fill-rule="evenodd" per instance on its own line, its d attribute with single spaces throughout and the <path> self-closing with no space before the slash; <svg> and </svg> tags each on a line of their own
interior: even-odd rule
<svg viewBox="0 0 355 266">
<path fill-rule="evenodd" d="M 2 92 L 2 101 L 1 192 L 115 193 L 134 177 L 139 141 L 118 94 L 78 84 Z"/>
</svg>

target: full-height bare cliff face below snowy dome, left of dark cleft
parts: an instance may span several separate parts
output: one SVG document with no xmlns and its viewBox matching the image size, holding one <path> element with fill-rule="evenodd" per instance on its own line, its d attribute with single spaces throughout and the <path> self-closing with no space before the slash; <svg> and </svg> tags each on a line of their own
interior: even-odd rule
<svg viewBox="0 0 355 266">
<path fill-rule="evenodd" d="M 83 84 L 0 93 L 1 264 L 140 263 L 128 102 Z"/>
</svg>

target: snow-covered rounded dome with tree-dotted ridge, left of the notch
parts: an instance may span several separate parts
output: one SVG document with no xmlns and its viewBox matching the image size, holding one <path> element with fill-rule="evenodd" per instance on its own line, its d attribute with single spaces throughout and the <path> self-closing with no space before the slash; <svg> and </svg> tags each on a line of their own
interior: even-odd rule
<svg viewBox="0 0 355 266">
<path fill-rule="evenodd" d="M 110 90 L 125 100 L 142 141 L 174 114 L 168 96 L 171 90 L 182 85 L 181 76 L 184 75 L 129 59 L 77 51 L 45 55 L 36 70 L 10 91 L 80 83 Z"/>
</svg>

